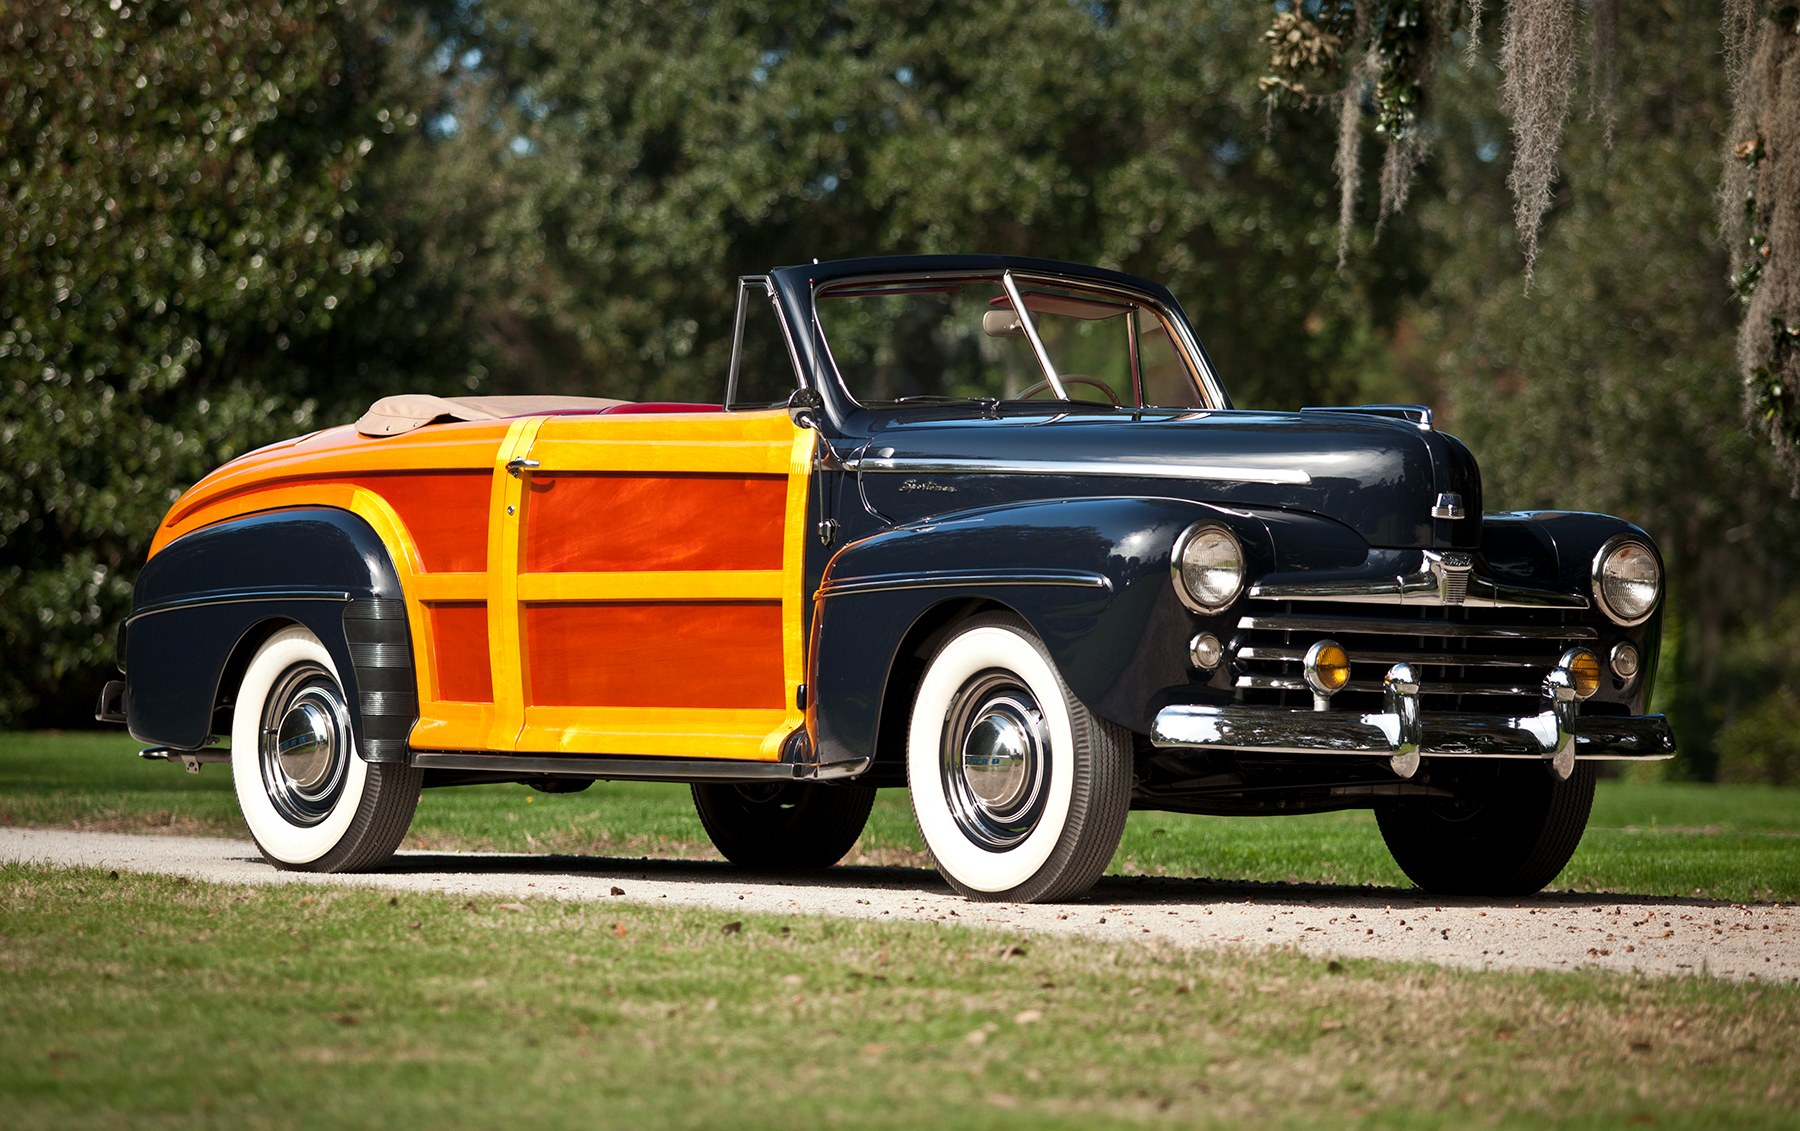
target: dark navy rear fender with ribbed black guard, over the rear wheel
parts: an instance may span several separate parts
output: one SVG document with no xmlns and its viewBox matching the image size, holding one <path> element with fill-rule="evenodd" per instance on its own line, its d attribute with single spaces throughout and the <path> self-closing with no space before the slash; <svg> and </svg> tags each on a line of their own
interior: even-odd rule
<svg viewBox="0 0 1800 1131">
<path fill-rule="evenodd" d="M 196 529 L 144 566 L 131 605 L 126 724 L 139 740 L 207 746 L 247 650 L 297 623 L 324 645 L 358 708 L 362 756 L 407 758 L 418 692 L 405 600 L 387 547 L 356 515 L 293 508 Z"/>
</svg>

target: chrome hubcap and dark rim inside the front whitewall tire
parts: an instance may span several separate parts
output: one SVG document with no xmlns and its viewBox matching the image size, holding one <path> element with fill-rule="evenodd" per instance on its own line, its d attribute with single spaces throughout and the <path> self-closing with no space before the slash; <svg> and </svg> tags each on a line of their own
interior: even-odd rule
<svg viewBox="0 0 1800 1131">
<path fill-rule="evenodd" d="M 1049 733 L 1037 697 L 1008 672 L 981 672 L 945 717 L 943 794 L 972 843 L 1003 852 L 1037 828 L 1049 783 Z"/>
</svg>

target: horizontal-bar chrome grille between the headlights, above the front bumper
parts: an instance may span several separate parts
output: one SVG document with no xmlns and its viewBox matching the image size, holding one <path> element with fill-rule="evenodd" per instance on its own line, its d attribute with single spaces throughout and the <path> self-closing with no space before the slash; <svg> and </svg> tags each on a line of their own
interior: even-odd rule
<svg viewBox="0 0 1800 1131">
<path fill-rule="evenodd" d="M 1244 702 L 1305 708 L 1312 692 L 1300 665 L 1307 648 L 1328 638 L 1350 656 L 1350 683 L 1332 699 L 1334 708 L 1381 710 L 1388 668 L 1409 663 L 1426 710 L 1535 711 L 1557 657 L 1597 639 L 1577 616 L 1561 609 L 1253 602 L 1231 639 L 1231 670 Z"/>
</svg>

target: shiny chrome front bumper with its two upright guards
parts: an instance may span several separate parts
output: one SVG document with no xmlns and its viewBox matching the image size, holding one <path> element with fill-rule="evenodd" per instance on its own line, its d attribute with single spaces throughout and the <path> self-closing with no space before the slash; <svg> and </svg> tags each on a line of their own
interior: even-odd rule
<svg viewBox="0 0 1800 1131">
<path fill-rule="evenodd" d="M 1247 706 L 1168 706 L 1157 711 L 1150 742 L 1159 747 L 1226 749 L 1267 755 L 1388 756 L 1411 778 L 1420 758 L 1528 758 L 1566 780 L 1575 762 L 1658 760 L 1676 753 L 1661 715 L 1582 719 L 1575 679 L 1557 666 L 1544 677 L 1535 715 L 1422 715 L 1411 665 L 1393 665 L 1382 681 L 1379 713 L 1292 711 Z"/>
</svg>

